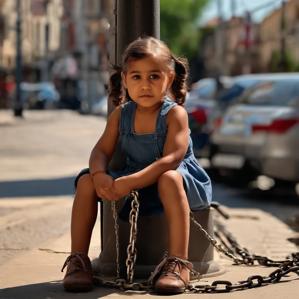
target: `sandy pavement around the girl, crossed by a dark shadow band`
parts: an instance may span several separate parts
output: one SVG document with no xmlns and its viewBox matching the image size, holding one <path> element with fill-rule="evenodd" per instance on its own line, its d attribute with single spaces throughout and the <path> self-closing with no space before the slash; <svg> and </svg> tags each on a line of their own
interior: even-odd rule
<svg viewBox="0 0 299 299">
<path fill-rule="evenodd" d="M 11 111 L 0 111 L 0 288 L 3 289 L 0 298 L 101 298 L 132 294 L 95 287 L 88 295 L 74 296 L 65 293 L 61 286 L 64 274 L 60 270 L 70 250 L 73 181 L 88 166 L 91 149 L 105 124 L 104 118 L 65 110 L 25 111 L 24 119 L 13 118 Z M 299 213 L 295 197 L 213 183 L 213 200 L 234 208 L 227 209 L 231 219 L 225 225 L 252 252 L 284 258 L 296 251 L 295 245 L 286 241 L 293 232 L 276 218 L 289 219 Z M 91 242 L 91 258 L 100 251 L 99 231 L 98 221 Z M 272 271 L 231 266 L 231 261 L 219 260 L 218 255 L 215 259 L 227 267 L 227 273 L 201 284 L 220 279 L 237 283 L 249 275 L 268 275 Z M 283 280 L 296 277 L 291 273 Z M 294 294 L 289 293 L 291 288 Z M 248 298 L 287 298 L 282 294 L 288 294 L 289 298 L 295 297 L 295 290 L 298 280 L 292 285 L 278 283 L 225 296 L 244 298 L 246 292 Z M 138 295 L 141 293 L 135 294 Z M 199 295 L 184 294 L 187 296 Z M 200 296 L 223 298 L 224 295 Z"/>
</svg>

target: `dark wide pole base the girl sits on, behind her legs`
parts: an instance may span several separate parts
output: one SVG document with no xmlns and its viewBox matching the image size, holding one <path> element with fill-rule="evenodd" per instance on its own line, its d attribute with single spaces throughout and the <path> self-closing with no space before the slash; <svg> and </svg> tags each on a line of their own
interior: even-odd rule
<svg viewBox="0 0 299 299">
<path fill-rule="evenodd" d="M 103 236 L 103 251 L 100 256 L 92 260 L 95 276 L 116 277 L 116 237 L 111 203 L 104 202 L 103 206 L 105 227 Z M 193 211 L 194 218 L 213 238 L 213 210 L 204 209 Z M 126 278 L 126 248 L 129 245 L 131 225 L 118 219 L 120 245 L 120 274 Z M 151 272 L 163 260 L 168 250 L 168 233 L 165 215 L 140 217 L 137 221 L 137 259 L 135 264 L 135 278 L 148 279 Z M 202 277 L 213 277 L 225 273 L 225 268 L 214 261 L 213 245 L 205 235 L 190 222 L 190 237 L 188 260 L 193 263 L 194 270 Z"/>
</svg>

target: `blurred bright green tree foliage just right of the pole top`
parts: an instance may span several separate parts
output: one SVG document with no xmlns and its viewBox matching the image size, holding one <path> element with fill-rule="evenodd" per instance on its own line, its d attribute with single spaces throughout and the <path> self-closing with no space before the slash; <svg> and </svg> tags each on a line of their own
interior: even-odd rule
<svg viewBox="0 0 299 299">
<path fill-rule="evenodd" d="M 188 59 L 200 43 L 199 17 L 210 0 L 160 0 L 160 36 L 176 55 Z"/>
</svg>

